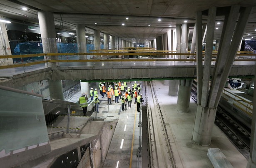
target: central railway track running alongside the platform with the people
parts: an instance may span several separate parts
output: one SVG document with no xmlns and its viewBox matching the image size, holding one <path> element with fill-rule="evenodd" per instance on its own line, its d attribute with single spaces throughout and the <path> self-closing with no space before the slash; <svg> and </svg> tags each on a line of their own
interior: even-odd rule
<svg viewBox="0 0 256 168">
<path fill-rule="evenodd" d="M 150 167 L 176 168 L 174 154 L 154 85 L 150 81 L 145 81 L 144 86 L 149 127 Z"/>
</svg>

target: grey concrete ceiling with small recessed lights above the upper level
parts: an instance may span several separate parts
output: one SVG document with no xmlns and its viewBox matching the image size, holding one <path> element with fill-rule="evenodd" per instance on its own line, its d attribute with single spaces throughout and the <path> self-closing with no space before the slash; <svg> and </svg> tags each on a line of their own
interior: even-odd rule
<svg viewBox="0 0 256 168">
<path fill-rule="evenodd" d="M 51 11 L 60 30 L 75 32 L 76 24 L 84 24 L 87 34 L 96 29 L 126 40 L 136 38 L 146 42 L 175 29 L 176 24 L 184 20 L 193 25 L 196 11 L 234 4 L 256 6 L 256 0 L 1 0 L 0 15 L 38 24 L 37 10 Z M 206 22 L 207 17 L 203 19 Z M 221 35 L 223 20 L 223 16 L 216 17 L 219 30 L 215 30 L 215 39 Z M 244 38 L 256 38 L 255 30 L 256 7 L 251 12 Z"/>
</svg>

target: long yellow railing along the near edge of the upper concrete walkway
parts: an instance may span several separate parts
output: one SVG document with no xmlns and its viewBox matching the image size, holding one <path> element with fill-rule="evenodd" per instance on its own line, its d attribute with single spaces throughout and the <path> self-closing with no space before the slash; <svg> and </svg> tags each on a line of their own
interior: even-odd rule
<svg viewBox="0 0 256 168">
<path fill-rule="evenodd" d="M 163 52 L 163 51 L 162 51 Z M 196 62 L 196 59 L 175 59 L 175 58 L 154 58 L 154 56 L 166 56 L 166 55 L 193 55 L 196 54 L 190 54 L 190 53 L 154 53 L 154 52 L 137 52 L 137 53 L 127 53 L 127 52 L 117 52 L 117 53 L 42 53 L 42 54 L 23 54 L 23 55 L 0 55 L 0 59 L 6 59 L 6 58 L 27 58 L 27 57 L 40 57 L 40 56 L 47 56 L 45 57 L 45 60 L 35 61 L 35 62 L 29 62 L 29 63 L 18 63 L 18 64 L 10 64 L 10 65 L 2 65 L 0 66 L 0 69 L 7 69 L 7 68 L 14 68 L 14 67 L 27 67 L 30 65 L 35 64 L 42 64 L 42 63 L 48 63 L 48 62 L 140 62 L 140 61 L 148 61 L 148 62 L 156 62 L 156 61 L 164 61 L 164 62 L 181 62 L 181 61 L 187 61 L 187 62 Z M 165 51 L 164 51 L 165 52 Z M 171 52 L 171 51 L 168 51 Z M 93 55 L 95 56 L 94 59 L 85 59 L 85 60 L 77 60 L 72 59 L 72 57 L 67 57 L 67 59 L 51 59 L 52 56 L 75 56 L 75 55 Z M 107 58 L 102 58 L 101 56 L 107 56 Z M 132 59 L 124 59 L 125 56 L 133 55 L 133 56 L 148 56 L 148 58 L 132 58 Z M 204 54 L 203 54 L 204 55 Z M 214 54 L 213 54 L 214 55 Z M 255 56 L 255 54 L 237 54 L 238 56 Z M 97 57 L 99 56 L 99 57 Z M 116 59 L 109 59 L 109 56 L 119 56 L 119 58 Z M 152 57 L 150 57 L 152 56 Z M 204 60 L 203 60 L 204 61 Z M 212 61 L 216 61 L 216 59 L 212 59 Z M 255 62 L 255 59 L 235 59 L 234 61 L 253 61 Z"/>
</svg>

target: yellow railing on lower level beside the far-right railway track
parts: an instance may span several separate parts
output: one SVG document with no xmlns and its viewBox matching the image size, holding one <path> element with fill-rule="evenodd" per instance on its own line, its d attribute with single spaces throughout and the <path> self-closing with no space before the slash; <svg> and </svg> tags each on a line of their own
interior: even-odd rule
<svg viewBox="0 0 256 168">
<path fill-rule="evenodd" d="M 244 98 L 237 96 L 230 91 L 227 91 L 226 89 L 224 89 L 222 93 L 224 99 L 230 103 L 233 103 L 234 106 L 236 106 L 241 111 L 244 111 L 249 116 L 252 116 L 253 104 L 250 101 L 247 101 Z"/>
</svg>

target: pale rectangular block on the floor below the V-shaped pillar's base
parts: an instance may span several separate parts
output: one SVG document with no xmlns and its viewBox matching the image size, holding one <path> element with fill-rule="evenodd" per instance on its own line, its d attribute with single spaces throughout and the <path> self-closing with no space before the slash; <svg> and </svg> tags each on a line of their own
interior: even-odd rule
<svg viewBox="0 0 256 168">
<path fill-rule="evenodd" d="M 233 168 L 219 148 L 209 148 L 207 156 L 214 168 Z"/>
</svg>

